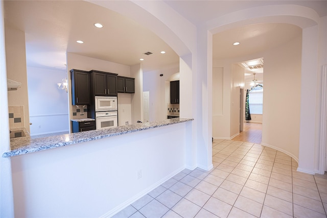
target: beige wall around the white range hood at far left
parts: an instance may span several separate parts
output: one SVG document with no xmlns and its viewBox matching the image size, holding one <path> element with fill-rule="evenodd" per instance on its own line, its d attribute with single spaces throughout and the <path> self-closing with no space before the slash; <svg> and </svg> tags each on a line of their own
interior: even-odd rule
<svg viewBox="0 0 327 218">
<path fill-rule="evenodd" d="M 18 90 L 8 91 L 8 105 L 24 106 L 24 126 L 30 131 L 25 33 L 6 23 L 5 37 L 7 78 L 21 83 Z"/>
</svg>

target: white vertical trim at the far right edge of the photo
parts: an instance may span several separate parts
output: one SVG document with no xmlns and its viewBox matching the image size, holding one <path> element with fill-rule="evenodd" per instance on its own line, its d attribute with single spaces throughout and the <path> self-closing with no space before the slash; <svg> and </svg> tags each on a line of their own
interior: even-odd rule
<svg viewBox="0 0 327 218">
<path fill-rule="evenodd" d="M 319 174 L 326 171 L 326 132 L 327 132 L 327 65 L 322 66 L 321 72 L 321 115 L 320 115 L 320 157 Z"/>
</svg>

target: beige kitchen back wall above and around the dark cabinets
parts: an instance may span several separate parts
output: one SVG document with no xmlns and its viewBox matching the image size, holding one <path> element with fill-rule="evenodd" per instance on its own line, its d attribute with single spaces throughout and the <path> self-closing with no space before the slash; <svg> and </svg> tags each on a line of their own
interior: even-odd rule
<svg viewBox="0 0 327 218">
<path fill-rule="evenodd" d="M 68 96 L 69 98 L 69 117 L 72 119 L 73 112 L 72 112 L 72 86 L 71 86 L 71 72 L 69 70 L 71 69 L 80 69 L 80 70 L 100 70 L 105 72 L 112 72 L 114 74 L 118 74 L 119 76 L 124 77 L 131 77 L 131 67 L 123 64 L 113 63 L 109 61 L 103 61 L 95 58 L 89 58 L 81 55 L 76 55 L 73 53 L 67 53 L 67 78 L 68 78 Z M 135 80 L 135 90 L 137 87 L 137 80 Z M 120 124 L 125 125 L 125 122 L 129 122 L 129 124 L 132 123 L 132 114 L 128 104 L 131 104 L 131 95 L 132 94 L 119 94 L 118 96 L 121 97 L 118 99 L 118 116 L 119 116 L 119 122 Z M 71 126 L 71 125 L 70 125 Z"/>
</svg>

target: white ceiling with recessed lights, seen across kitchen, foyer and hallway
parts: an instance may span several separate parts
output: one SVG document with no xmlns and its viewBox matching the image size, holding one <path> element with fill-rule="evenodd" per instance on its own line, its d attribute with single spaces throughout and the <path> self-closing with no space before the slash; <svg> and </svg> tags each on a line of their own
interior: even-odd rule
<svg viewBox="0 0 327 218">
<path fill-rule="evenodd" d="M 195 24 L 249 7 L 271 4 L 310 4 L 320 16 L 327 1 L 164 1 Z M 5 25 L 26 33 L 27 62 L 31 66 L 65 68 L 65 53 L 134 65 L 144 58 L 144 71 L 176 65 L 177 54 L 158 36 L 116 12 L 84 1 L 4 1 Z M 199 10 L 201 8 L 201 10 Z M 104 28 L 94 27 L 100 22 Z M 261 23 L 214 35 L 214 59 L 264 51 L 291 40 L 300 28 Z M 84 41 L 83 44 L 76 40 Z M 234 46 L 231 43 L 240 41 Z M 166 51 L 166 54 L 160 54 Z M 143 53 L 152 52 L 150 56 Z M 258 57 L 259 58 L 259 57 Z M 245 60 L 246 61 L 246 60 Z"/>
</svg>

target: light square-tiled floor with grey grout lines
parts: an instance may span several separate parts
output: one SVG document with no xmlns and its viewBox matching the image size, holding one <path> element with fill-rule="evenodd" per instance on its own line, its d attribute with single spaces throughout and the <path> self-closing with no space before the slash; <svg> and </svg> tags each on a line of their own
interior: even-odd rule
<svg viewBox="0 0 327 218">
<path fill-rule="evenodd" d="M 327 174 L 274 149 L 214 140 L 211 171 L 184 169 L 113 217 L 327 217 Z"/>
</svg>

